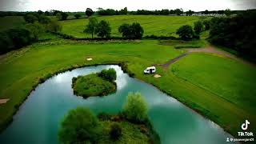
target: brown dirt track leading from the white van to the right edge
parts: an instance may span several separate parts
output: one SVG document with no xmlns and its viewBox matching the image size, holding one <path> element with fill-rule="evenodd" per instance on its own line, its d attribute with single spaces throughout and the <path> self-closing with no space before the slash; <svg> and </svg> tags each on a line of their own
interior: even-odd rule
<svg viewBox="0 0 256 144">
<path fill-rule="evenodd" d="M 179 59 L 186 57 L 190 53 L 218 54 L 222 57 L 232 58 L 232 59 L 235 59 L 237 61 L 243 62 L 247 65 L 256 66 L 256 64 L 254 64 L 252 62 L 248 62 L 248 61 L 246 61 L 242 58 L 239 58 L 238 56 L 236 56 L 234 54 L 230 54 L 229 52 L 226 52 L 224 50 L 219 50 L 218 48 L 216 48 L 214 46 L 208 46 L 206 48 L 186 48 L 186 49 L 182 49 L 182 50 L 186 50 L 187 52 L 185 54 L 182 54 L 182 55 L 178 56 L 177 58 L 171 59 L 170 61 L 168 61 L 164 64 L 156 64 L 154 66 L 162 66 L 166 70 L 172 63 L 177 62 Z"/>
</svg>

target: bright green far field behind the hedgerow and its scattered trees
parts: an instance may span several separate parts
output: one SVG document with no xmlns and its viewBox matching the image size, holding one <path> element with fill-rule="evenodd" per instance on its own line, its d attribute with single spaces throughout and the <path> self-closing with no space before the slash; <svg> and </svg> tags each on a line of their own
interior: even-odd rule
<svg viewBox="0 0 256 144">
<path fill-rule="evenodd" d="M 112 36 L 121 36 L 118 34 L 118 27 L 123 23 L 139 22 L 144 29 L 145 35 L 165 35 L 176 36 L 176 30 L 183 25 L 194 25 L 199 17 L 186 16 L 160 16 L 160 15 L 116 15 L 116 16 L 102 16 L 97 17 L 98 21 L 106 20 L 110 22 L 112 28 Z M 89 22 L 88 18 L 78 20 L 62 21 L 62 33 L 70 34 L 78 38 L 90 38 L 90 34 L 83 33 L 86 24 Z"/>
</svg>

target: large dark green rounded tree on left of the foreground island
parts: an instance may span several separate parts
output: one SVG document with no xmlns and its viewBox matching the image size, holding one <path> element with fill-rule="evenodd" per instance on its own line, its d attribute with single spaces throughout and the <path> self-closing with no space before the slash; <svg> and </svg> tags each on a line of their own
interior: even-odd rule
<svg viewBox="0 0 256 144">
<path fill-rule="evenodd" d="M 89 109 L 78 107 L 62 121 L 58 139 L 62 143 L 94 143 L 100 130 L 98 118 Z"/>
</svg>

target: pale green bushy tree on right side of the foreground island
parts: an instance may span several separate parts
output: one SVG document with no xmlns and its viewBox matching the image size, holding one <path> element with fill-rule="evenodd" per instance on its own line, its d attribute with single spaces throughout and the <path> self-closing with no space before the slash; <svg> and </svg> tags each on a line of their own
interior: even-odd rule
<svg viewBox="0 0 256 144">
<path fill-rule="evenodd" d="M 144 122 L 147 118 L 147 104 L 139 93 L 128 94 L 127 102 L 123 106 L 126 118 L 134 122 Z"/>
</svg>

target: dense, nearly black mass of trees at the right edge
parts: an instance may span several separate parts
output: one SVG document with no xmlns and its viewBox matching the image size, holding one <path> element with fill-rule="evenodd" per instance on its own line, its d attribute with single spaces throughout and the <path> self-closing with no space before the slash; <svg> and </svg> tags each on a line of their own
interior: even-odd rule
<svg viewBox="0 0 256 144">
<path fill-rule="evenodd" d="M 229 18 L 212 18 L 210 42 L 237 50 L 244 56 L 256 56 L 256 10 L 246 10 Z"/>
</svg>

